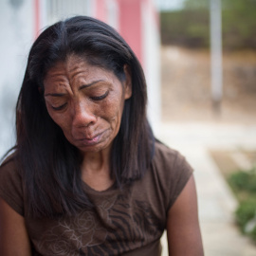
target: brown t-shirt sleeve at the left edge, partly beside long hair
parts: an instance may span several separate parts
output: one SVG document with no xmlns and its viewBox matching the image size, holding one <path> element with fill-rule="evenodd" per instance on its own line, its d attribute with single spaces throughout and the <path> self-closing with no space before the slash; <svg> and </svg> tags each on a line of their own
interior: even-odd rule
<svg viewBox="0 0 256 256">
<path fill-rule="evenodd" d="M 18 174 L 13 155 L 10 155 L 0 166 L 0 196 L 13 210 L 24 216 L 22 179 Z"/>
</svg>

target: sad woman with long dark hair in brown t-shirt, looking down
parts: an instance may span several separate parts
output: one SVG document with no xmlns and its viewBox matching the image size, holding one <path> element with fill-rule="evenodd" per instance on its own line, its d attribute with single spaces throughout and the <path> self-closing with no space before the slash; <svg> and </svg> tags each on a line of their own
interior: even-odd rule
<svg viewBox="0 0 256 256">
<path fill-rule="evenodd" d="M 192 169 L 156 141 L 146 83 L 111 27 L 77 16 L 31 47 L 0 169 L 1 255 L 203 255 Z"/>
</svg>

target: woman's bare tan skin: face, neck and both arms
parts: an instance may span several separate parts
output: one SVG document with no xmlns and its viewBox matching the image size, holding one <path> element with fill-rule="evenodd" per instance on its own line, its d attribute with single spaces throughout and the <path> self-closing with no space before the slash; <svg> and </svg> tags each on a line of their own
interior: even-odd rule
<svg viewBox="0 0 256 256">
<path fill-rule="evenodd" d="M 109 153 L 119 132 L 124 101 L 132 96 L 126 65 L 124 72 L 126 80 L 120 82 L 112 72 L 73 55 L 51 68 L 44 81 L 47 111 L 80 150 L 82 180 L 97 191 L 115 182 L 110 177 Z M 168 212 L 167 234 L 170 255 L 203 255 L 193 177 Z M 2 199 L 0 255 L 31 255 L 24 217 Z"/>
</svg>

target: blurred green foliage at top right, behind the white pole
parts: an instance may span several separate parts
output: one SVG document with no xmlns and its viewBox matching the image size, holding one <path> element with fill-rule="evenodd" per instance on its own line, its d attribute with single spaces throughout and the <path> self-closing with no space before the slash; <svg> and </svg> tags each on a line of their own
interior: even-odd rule
<svg viewBox="0 0 256 256">
<path fill-rule="evenodd" d="M 222 0 L 225 49 L 256 49 L 256 0 Z M 184 9 L 161 12 L 164 45 L 209 47 L 210 0 L 186 0 Z"/>
</svg>

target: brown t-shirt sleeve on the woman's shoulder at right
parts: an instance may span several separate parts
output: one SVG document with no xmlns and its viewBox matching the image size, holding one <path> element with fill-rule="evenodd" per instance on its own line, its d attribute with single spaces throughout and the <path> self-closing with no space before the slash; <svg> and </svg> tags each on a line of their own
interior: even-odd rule
<svg viewBox="0 0 256 256">
<path fill-rule="evenodd" d="M 167 210 L 170 210 L 170 208 L 174 205 L 176 198 L 183 191 L 187 182 L 189 181 L 193 170 L 186 158 L 180 153 L 176 152 L 173 166 L 170 167 L 170 172 L 170 199 Z"/>
</svg>

